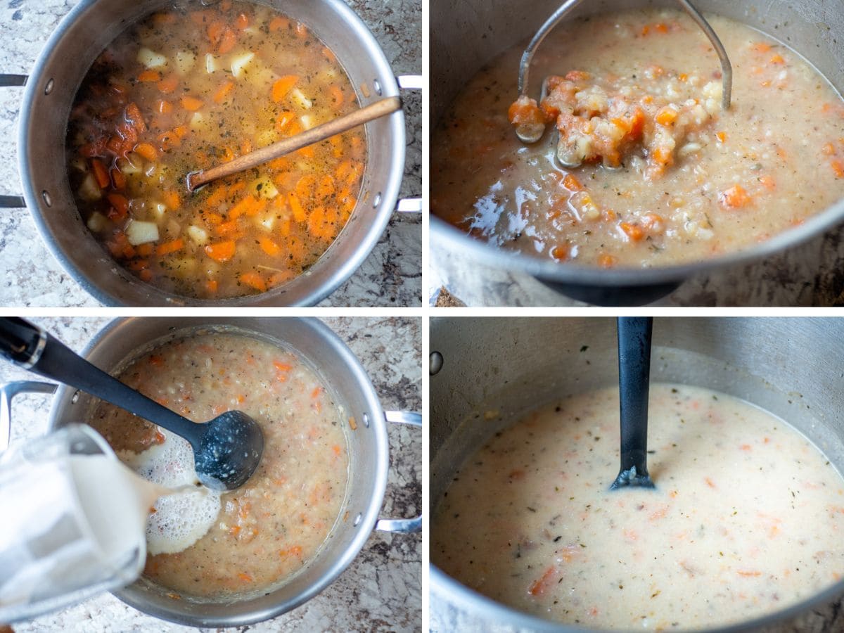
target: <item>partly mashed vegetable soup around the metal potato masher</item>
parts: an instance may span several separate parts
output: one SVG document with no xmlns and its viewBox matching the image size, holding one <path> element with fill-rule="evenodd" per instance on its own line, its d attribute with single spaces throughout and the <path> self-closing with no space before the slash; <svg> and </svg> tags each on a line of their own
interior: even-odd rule
<svg viewBox="0 0 844 633">
<path fill-rule="evenodd" d="M 511 103 L 523 46 L 504 52 L 435 134 L 431 210 L 532 257 L 644 268 L 747 249 L 841 200 L 841 97 L 787 46 L 710 22 L 733 63 L 728 111 L 711 43 L 677 11 L 560 25 L 533 60 L 540 102 Z M 532 145 L 513 130 L 546 124 Z"/>
</svg>

